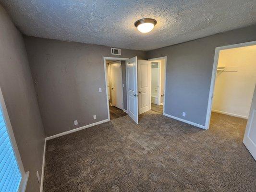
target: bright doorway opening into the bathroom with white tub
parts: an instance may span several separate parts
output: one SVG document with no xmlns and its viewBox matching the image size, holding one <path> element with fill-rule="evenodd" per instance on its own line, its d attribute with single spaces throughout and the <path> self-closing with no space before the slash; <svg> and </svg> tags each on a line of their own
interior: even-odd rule
<svg viewBox="0 0 256 192">
<path fill-rule="evenodd" d="M 151 110 L 163 114 L 164 93 L 165 93 L 165 73 L 166 57 L 149 59 L 151 66 Z"/>
</svg>

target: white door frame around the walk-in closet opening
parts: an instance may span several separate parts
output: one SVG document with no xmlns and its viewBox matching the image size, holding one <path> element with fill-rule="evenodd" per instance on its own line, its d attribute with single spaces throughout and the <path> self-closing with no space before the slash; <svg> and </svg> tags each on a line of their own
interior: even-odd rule
<svg viewBox="0 0 256 192">
<path fill-rule="evenodd" d="M 213 99 L 213 94 L 214 94 L 214 85 L 215 85 L 217 67 L 218 67 L 218 61 L 219 61 L 219 51 L 224 50 L 224 49 L 241 48 L 241 47 L 252 46 L 252 45 L 256 45 L 256 41 L 238 43 L 238 44 L 227 45 L 227 46 L 215 48 L 215 55 L 214 55 L 212 75 L 211 75 L 211 85 L 210 85 L 210 90 L 209 90 L 209 98 L 208 98 L 208 106 L 207 106 L 206 124 L 205 124 L 204 129 L 209 129 L 209 126 L 210 126 L 212 99 Z"/>
</svg>

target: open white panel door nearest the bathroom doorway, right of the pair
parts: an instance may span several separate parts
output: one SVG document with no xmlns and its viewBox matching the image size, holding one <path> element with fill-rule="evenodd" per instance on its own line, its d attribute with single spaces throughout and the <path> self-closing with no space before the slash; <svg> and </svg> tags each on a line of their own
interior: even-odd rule
<svg viewBox="0 0 256 192">
<path fill-rule="evenodd" d="M 139 114 L 150 110 L 150 61 L 138 60 Z"/>
</svg>

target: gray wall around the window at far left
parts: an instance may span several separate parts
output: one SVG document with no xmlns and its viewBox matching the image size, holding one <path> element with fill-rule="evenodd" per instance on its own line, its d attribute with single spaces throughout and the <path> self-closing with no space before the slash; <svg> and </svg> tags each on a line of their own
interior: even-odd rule
<svg viewBox="0 0 256 192">
<path fill-rule="evenodd" d="M 26 192 L 39 192 L 45 134 L 21 33 L 0 6 L 0 87 L 25 171 Z"/>
</svg>

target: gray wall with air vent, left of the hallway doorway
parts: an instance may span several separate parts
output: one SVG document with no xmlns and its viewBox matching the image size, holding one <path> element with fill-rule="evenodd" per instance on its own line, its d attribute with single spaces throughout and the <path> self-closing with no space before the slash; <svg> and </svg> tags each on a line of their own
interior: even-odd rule
<svg viewBox="0 0 256 192">
<path fill-rule="evenodd" d="M 46 136 L 108 119 L 103 56 L 117 57 L 109 47 L 29 36 L 24 41 Z M 145 59 L 146 52 L 122 49 L 120 57 L 134 56 Z"/>
</svg>

